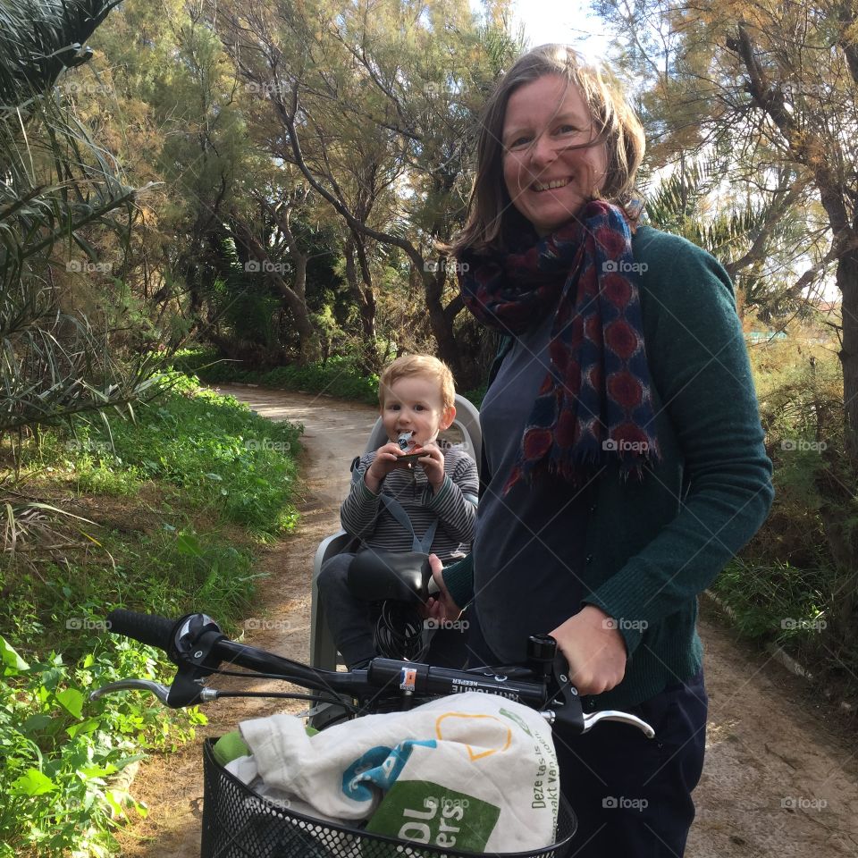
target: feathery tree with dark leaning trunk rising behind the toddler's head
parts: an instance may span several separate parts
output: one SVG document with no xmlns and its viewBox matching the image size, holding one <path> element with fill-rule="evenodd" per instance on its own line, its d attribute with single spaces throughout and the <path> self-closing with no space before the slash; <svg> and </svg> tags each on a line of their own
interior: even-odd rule
<svg viewBox="0 0 858 858">
<path fill-rule="evenodd" d="M 439 357 L 460 384 L 478 383 L 456 334 L 463 305 L 434 242 L 463 221 L 475 117 L 519 45 L 478 27 L 461 0 L 419 8 L 256 0 L 220 5 L 217 21 L 266 108 L 251 125 L 255 137 L 295 164 L 344 221 L 347 260 L 348 242 L 358 258 L 374 242 L 408 259 L 406 299 L 422 292 Z"/>
</svg>

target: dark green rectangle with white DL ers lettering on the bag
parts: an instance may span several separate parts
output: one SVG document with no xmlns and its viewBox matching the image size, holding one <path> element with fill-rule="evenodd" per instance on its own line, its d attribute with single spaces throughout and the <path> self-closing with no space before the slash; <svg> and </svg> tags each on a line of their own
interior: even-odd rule
<svg viewBox="0 0 858 858">
<path fill-rule="evenodd" d="M 482 852 L 501 809 L 428 780 L 398 780 L 366 826 L 409 843 Z"/>
</svg>

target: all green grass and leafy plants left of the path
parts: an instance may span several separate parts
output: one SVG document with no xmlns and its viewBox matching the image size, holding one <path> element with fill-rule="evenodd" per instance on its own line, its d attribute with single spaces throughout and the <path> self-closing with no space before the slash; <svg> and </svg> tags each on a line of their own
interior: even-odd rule
<svg viewBox="0 0 858 858">
<path fill-rule="evenodd" d="M 27 450 L 17 490 L 56 507 L 71 494 L 79 518 L 9 496 L 23 542 L 0 566 L 0 858 L 116 853 L 117 821 L 147 810 L 112 776 L 205 717 L 139 693 L 88 702 L 114 679 L 172 677 L 156 650 L 106 634 L 105 615 L 205 610 L 237 636 L 258 541 L 295 526 L 301 428 L 167 381 L 135 422 L 81 420 Z"/>
</svg>

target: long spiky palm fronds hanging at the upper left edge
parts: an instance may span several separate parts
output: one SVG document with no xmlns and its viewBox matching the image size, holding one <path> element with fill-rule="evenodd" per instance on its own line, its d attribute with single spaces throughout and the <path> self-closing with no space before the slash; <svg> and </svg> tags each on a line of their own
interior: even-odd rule
<svg viewBox="0 0 858 858">
<path fill-rule="evenodd" d="M 140 197 L 54 89 L 114 5 L 0 6 L 0 432 L 128 403 L 151 372 L 118 359 L 103 316 L 68 307 L 76 276 L 113 265 L 93 240 L 112 235 L 121 251 Z"/>
</svg>

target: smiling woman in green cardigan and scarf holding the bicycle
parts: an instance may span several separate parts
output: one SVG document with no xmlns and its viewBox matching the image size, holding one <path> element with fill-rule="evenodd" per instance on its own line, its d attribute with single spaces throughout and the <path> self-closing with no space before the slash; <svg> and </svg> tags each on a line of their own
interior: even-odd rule
<svg viewBox="0 0 858 858">
<path fill-rule="evenodd" d="M 538 47 L 485 106 L 451 248 L 467 308 L 503 339 L 474 549 L 435 564 L 430 612 L 470 604 L 475 663 L 523 660 L 527 635 L 550 632 L 585 711 L 657 734 L 555 736 L 578 858 L 683 854 L 707 710 L 696 597 L 773 498 L 728 275 L 636 225 L 643 152 L 606 76 Z"/>
</svg>

